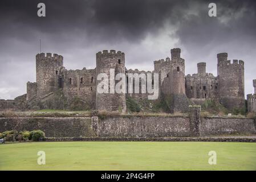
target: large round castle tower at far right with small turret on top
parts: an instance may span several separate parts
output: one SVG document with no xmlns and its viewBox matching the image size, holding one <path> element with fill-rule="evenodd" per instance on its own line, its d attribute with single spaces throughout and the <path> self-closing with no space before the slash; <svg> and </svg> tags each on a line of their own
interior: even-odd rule
<svg viewBox="0 0 256 182">
<path fill-rule="evenodd" d="M 220 103 L 227 109 L 245 108 L 245 76 L 242 60 L 227 60 L 227 53 L 218 53 L 217 72 Z"/>
</svg>

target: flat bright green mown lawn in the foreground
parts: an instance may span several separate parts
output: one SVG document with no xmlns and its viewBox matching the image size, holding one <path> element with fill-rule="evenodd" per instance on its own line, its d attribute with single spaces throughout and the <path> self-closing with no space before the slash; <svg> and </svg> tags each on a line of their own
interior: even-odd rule
<svg viewBox="0 0 256 182">
<path fill-rule="evenodd" d="M 38 151 L 46 164 L 38 165 Z M 208 163 L 209 151 L 217 164 Z M 0 170 L 256 170 L 256 143 L 38 142 L 0 145 Z"/>
</svg>

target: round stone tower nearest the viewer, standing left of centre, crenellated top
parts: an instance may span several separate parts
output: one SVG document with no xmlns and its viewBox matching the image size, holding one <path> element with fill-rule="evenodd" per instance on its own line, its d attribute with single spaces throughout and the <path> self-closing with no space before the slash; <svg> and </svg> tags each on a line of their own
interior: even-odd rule
<svg viewBox="0 0 256 182">
<path fill-rule="evenodd" d="M 125 74 L 124 53 L 121 51 L 116 53 L 114 50 L 96 53 L 96 76 L 99 73 L 106 73 L 109 79 L 111 77 L 111 69 L 115 69 L 115 76 L 118 73 Z M 96 81 L 96 88 L 99 82 L 101 81 Z M 116 82 L 119 81 L 115 81 L 115 84 Z M 110 85 L 109 81 L 108 85 Z M 108 90 L 108 93 L 99 93 L 96 91 L 96 109 L 108 111 L 121 110 L 124 113 L 126 111 L 125 93 L 111 93 L 110 88 Z"/>
</svg>

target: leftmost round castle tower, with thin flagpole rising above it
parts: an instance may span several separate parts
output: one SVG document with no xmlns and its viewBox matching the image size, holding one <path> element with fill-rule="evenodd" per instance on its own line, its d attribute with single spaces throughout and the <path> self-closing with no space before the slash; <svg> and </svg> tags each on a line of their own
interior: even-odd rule
<svg viewBox="0 0 256 182">
<path fill-rule="evenodd" d="M 51 53 L 36 55 L 36 85 L 39 99 L 58 90 L 59 69 L 63 67 L 63 57 Z"/>
</svg>

